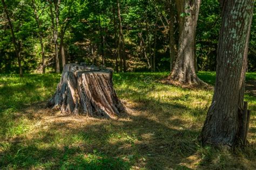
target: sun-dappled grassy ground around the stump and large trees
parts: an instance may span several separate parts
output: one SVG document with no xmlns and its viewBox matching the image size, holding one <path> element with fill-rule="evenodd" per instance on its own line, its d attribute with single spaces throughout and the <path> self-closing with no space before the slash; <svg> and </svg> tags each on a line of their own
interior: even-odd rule
<svg viewBox="0 0 256 170">
<path fill-rule="evenodd" d="M 114 74 L 127 114 L 112 120 L 45 109 L 60 75 L 0 75 L 0 169 L 256 169 L 256 73 L 246 75 L 250 145 L 233 151 L 198 140 L 213 88 L 161 83 L 167 75 Z M 214 72 L 198 76 L 214 84 Z"/>
</svg>

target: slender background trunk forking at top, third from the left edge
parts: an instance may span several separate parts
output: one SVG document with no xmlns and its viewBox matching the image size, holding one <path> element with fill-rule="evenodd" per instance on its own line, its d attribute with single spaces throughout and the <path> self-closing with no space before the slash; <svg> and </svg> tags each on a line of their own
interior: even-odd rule
<svg viewBox="0 0 256 170">
<path fill-rule="evenodd" d="M 55 61 L 56 61 L 56 73 L 60 73 L 59 69 L 59 56 L 58 56 L 58 20 L 59 20 L 59 3 L 60 0 L 57 1 L 55 5 L 56 16 L 53 15 L 52 10 L 52 2 L 48 0 L 50 3 L 50 12 L 51 12 L 51 23 L 52 23 L 52 35 L 53 35 L 53 43 L 55 47 Z M 56 23 L 56 24 L 55 24 Z"/>
</svg>

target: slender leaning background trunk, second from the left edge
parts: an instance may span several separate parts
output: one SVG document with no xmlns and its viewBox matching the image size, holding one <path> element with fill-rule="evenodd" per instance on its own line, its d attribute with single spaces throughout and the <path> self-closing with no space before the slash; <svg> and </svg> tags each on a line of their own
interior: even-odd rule
<svg viewBox="0 0 256 170">
<path fill-rule="evenodd" d="M 36 19 L 36 23 L 37 23 L 37 29 L 39 30 L 41 27 L 41 24 L 39 22 L 39 18 L 37 15 L 37 10 L 36 10 L 36 5 L 35 5 L 35 1 L 32 0 L 32 8 L 34 10 L 34 14 L 35 14 L 35 19 Z M 39 30 L 39 40 L 40 40 L 40 44 L 41 44 L 41 54 L 42 54 L 42 73 L 45 74 L 45 63 L 44 63 L 44 43 L 43 43 L 43 34 L 42 32 Z"/>
</svg>

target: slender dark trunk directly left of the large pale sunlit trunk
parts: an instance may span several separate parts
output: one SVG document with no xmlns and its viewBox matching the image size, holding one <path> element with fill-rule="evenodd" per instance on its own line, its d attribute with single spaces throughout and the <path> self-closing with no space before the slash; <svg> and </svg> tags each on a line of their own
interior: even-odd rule
<svg viewBox="0 0 256 170">
<path fill-rule="evenodd" d="M 170 0 L 169 3 L 170 7 L 169 7 L 169 17 L 170 17 L 170 22 L 169 22 L 169 48 L 170 48 L 170 70 L 172 72 L 172 67 L 173 67 L 173 62 L 176 59 L 177 56 L 177 51 L 175 49 L 176 47 L 176 41 L 174 38 L 174 20 L 175 20 L 175 16 L 174 16 L 174 5 L 175 2 L 174 0 Z"/>
</svg>

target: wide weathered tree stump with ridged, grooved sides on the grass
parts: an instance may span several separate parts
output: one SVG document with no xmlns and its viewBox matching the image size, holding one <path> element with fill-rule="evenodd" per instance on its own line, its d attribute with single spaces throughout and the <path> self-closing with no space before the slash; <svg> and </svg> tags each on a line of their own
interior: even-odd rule
<svg viewBox="0 0 256 170">
<path fill-rule="evenodd" d="M 114 118 L 124 110 L 113 88 L 113 71 L 70 63 L 64 66 L 56 93 L 47 107 L 62 114 Z"/>
</svg>

